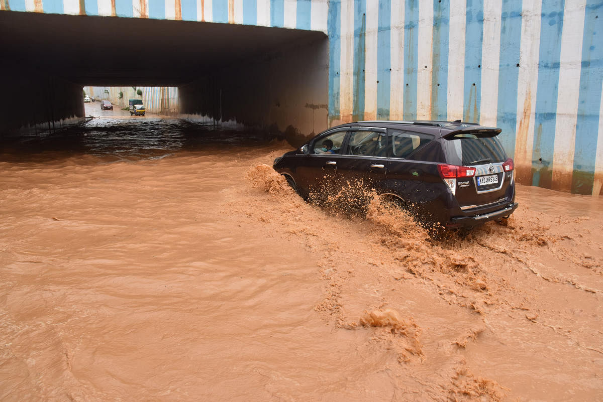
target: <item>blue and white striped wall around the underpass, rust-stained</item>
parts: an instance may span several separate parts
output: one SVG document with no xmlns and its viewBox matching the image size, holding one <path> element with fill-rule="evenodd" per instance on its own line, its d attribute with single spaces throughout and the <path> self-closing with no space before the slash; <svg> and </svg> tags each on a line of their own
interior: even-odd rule
<svg viewBox="0 0 603 402">
<path fill-rule="evenodd" d="M 0 0 L 44 13 L 242 23 L 329 36 L 327 125 L 498 126 L 520 182 L 599 194 L 603 0 Z"/>
</svg>

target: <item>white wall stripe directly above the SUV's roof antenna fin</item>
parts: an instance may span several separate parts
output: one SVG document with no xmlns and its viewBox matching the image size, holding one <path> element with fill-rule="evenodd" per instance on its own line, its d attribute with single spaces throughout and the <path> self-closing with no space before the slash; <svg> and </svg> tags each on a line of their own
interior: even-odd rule
<svg viewBox="0 0 603 402">
<path fill-rule="evenodd" d="M 463 119 L 466 0 L 450 0 L 447 119 Z"/>
</svg>

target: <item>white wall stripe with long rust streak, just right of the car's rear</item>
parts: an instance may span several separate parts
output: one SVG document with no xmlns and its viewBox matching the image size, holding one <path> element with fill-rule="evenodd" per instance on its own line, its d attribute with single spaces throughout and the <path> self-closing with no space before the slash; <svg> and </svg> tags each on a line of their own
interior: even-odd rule
<svg viewBox="0 0 603 402">
<path fill-rule="evenodd" d="M 532 4 L 525 2 L 522 8 L 522 38 L 517 79 L 515 164 L 526 173 L 532 169 L 532 148 L 534 147 L 541 3 L 539 1 Z"/>
</svg>

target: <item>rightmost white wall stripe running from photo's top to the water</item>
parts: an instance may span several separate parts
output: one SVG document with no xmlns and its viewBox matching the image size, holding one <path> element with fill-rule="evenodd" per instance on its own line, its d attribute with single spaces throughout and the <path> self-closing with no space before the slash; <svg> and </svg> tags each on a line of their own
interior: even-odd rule
<svg viewBox="0 0 603 402">
<path fill-rule="evenodd" d="M 566 190 L 572 188 L 573 152 L 578 119 L 582 37 L 586 0 L 567 1 L 563 11 L 557 120 L 553 148 L 553 182 Z"/>
</svg>

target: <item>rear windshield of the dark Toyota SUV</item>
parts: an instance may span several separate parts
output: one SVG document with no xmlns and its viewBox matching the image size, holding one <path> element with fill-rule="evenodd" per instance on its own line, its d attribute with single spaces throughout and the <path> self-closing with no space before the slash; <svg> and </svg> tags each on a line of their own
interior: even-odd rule
<svg viewBox="0 0 603 402">
<path fill-rule="evenodd" d="M 505 150 L 496 138 L 496 132 L 462 133 L 446 138 L 453 143 L 456 155 L 463 165 L 481 165 L 504 162 Z"/>
</svg>

